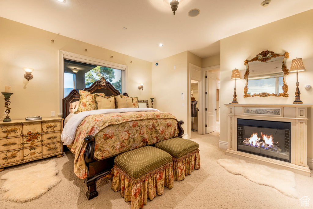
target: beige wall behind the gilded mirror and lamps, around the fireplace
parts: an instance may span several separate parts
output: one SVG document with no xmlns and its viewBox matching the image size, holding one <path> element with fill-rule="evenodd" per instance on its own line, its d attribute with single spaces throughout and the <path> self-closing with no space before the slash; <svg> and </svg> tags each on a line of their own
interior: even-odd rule
<svg viewBox="0 0 313 209">
<path fill-rule="evenodd" d="M 307 90 L 305 84 L 313 85 L 313 10 L 306 11 L 270 24 L 260 26 L 240 34 L 221 40 L 221 139 L 227 141 L 227 107 L 223 104 L 232 101 L 234 81 L 230 80 L 231 71 L 241 70 L 243 78 L 245 72 L 244 60 L 252 59 L 264 50 L 276 53 L 290 53 L 287 68 L 291 60 L 303 58 L 306 71 L 299 73 L 301 99 L 303 103 L 313 103 L 313 89 Z M 295 99 L 296 74 L 286 76 L 289 86 L 289 97 L 250 97 L 243 98 L 245 80 L 236 81 L 239 103 L 292 103 Z M 313 158 L 313 144 L 311 123 L 308 128 L 308 157 Z"/>
</svg>

